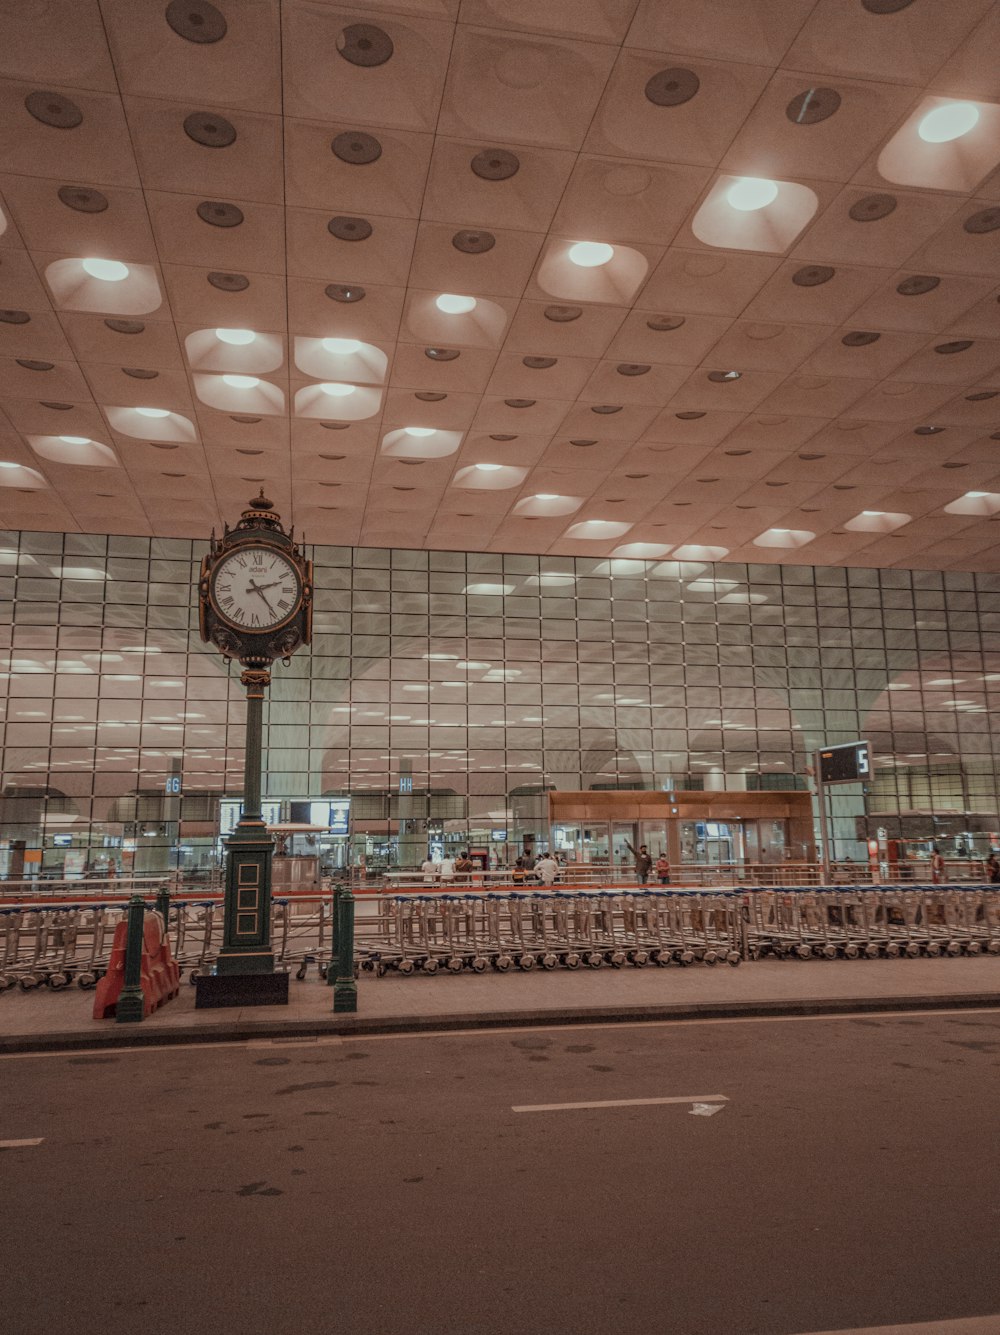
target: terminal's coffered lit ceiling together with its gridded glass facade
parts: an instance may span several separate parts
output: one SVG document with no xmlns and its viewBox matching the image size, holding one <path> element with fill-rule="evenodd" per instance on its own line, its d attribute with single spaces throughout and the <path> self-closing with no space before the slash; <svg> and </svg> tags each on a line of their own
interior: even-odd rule
<svg viewBox="0 0 1000 1335">
<path fill-rule="evenodd" d="M 0 874 L 1000 842 L 1000 5 L 59 0 L 0 43 Z M 276 860 L 275 866 L 280 862 Z"/>
</svg>

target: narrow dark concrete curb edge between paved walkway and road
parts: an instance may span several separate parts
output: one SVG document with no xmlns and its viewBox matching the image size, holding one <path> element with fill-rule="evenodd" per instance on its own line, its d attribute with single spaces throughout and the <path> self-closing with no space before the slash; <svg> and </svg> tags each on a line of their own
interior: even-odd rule
<svg viewBox="0 0 1000 1335">
<path fill-rule="evenodd" d="M 494 1011 L 454 1015 L 363 1016 L 332 1013 L 328 1019 L 243 1020 L 216 1025 L 175 1025 L 170 1029 L 115 1025 L 95 1031 L 0 1036 L 0 1055 L 73 1052 L 93 1048 L 170 1048 L 190 1043 L 246 1043 L 258 1040 L 364 1037 L 391 1033 L 449 1033 L 475 1029 L 541 1028 L 546 1025 L 634 1024 L 670 1020 L 768 1020 L 837 1015 L 891 1015 L 900 1011 L 1000 1009 L 1000 992 L 960 996 L 798 997 L 793 1001 L 701 1001 L 673 1005 L 577 1007 L 559 1011 Z"/>
</svg>

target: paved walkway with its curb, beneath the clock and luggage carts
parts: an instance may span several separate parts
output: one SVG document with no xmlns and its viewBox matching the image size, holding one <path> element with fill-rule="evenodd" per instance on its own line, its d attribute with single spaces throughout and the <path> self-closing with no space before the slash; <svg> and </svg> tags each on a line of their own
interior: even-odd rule
<svg viewBox="0 0 1000 1335">
<path fill-rule="evenodd" d="M 128 1025 L 93 1020 L 93 992 L 7 992 L 0 996 L 0 1051 L 973 1005 L 1000 1008 L 1000 957 L 757 960 L 737 969 L 694 965 L 409 979 L 362 975 L 354 1016 L 335 1016 L 332 989 L 311 973 L 303 983 L 291 979 L 287 1007 L 195 1011 L 195 989 L 184 983 L 175 1001 Z"/>
</svg>

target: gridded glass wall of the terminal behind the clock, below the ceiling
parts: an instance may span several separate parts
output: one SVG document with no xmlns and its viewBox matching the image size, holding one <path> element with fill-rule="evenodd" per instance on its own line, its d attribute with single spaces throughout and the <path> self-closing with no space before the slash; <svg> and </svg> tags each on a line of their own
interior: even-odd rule
<svg viewBox="0 0 1000 1335">
<path fill-rule="evenodd" d="M 60 850 L 96 862 L 128 844 L 136 869 L 159 869 L 178 841 L 195 860 L 214 849 L 244 706 L 198 634 L 204 546 L 0 535 L 5 856 L 23 841 L 56 868 Z M 1000 575 L 314 559 L 314 645 L 274 670 L 264 794 L 287 818 L 350 794 L 351 848 L 370 860 L 419 861 L 429 838 L 543 840 L 553 788 L 802 788 L 816 746 L 857 737 L 876 774 L 836 790 L 842 852 L 864 856 L 874 825 L 996 830 Z"/>
</svg>

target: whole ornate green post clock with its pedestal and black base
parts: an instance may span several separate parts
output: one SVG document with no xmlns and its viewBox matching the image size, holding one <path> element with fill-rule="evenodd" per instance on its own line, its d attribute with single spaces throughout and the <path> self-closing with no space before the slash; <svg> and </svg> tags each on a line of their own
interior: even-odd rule
<svg viewBox="0 0 1000 1335">
<path fill-rule="evenodd" d="M 198 1005 L 287 1000 L 287 973 L 275 975 L 271 949 L 274 840 L 260 813 L 264 690 L 271 663 L 286 663 L 312 638 L 312 562 L 260 495 L 235 529 L 212 534 L 199 579 L 202 639 L 243 668 L 247 741 L 243 814 L 226 842 L 223 945 L 214 975 L 198 980 Z"/>
</svg>

